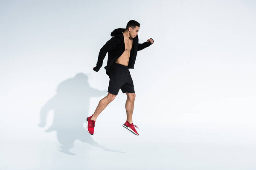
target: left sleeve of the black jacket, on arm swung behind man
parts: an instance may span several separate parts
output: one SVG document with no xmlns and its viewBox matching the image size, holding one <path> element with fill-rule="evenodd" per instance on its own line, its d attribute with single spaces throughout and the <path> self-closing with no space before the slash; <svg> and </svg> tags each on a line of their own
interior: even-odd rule
<svg viewBox="0 0 256 170">
<path fill-rule="evenodd" d="M 112 37 L 110 40 L 108 40 L 105 45 L 100 49 L 99 51 L 99 56 L 98 56 L 98 61 L 96 64 L 96 67 L 93 68 L 94 71 L 99 71 L 99 69 L 102 67 L 103 64 L 103 59 L 105 58 L 106 54 L 108 51 L 111 51 L 114 47 L 114 40 L 115 37 Z"/>
</svg>

